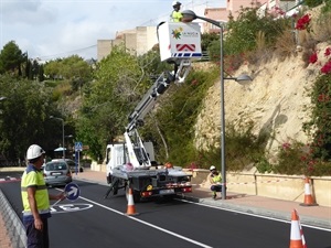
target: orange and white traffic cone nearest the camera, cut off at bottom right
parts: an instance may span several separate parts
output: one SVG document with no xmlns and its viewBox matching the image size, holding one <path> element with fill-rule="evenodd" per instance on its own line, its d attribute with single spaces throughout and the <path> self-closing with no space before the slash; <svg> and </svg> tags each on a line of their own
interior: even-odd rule
<svg viewBox="0 0 331 248">
<path fill-rule="evenodd" d="M 307 248 L 303 231 L 296 209 L 292 211 L 291 216 L 291 235 L 289 248 Z"/>
</svg>

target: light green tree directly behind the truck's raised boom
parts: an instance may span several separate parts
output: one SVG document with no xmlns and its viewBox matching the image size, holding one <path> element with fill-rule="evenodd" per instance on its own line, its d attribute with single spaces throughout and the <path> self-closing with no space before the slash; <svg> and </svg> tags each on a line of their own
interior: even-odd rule
<svg viewBox="0 0 331 248">
<path fill-rule="evenodd" d="M 106 144 L 122 134 L 127 117 L 149 87 L 148 74 L 124 46 L 114 47 L 95 72 L 95 80 L 84 87 L 77 136 L 89 145 L 92 158 L 104 155 Z"/>
</svg>

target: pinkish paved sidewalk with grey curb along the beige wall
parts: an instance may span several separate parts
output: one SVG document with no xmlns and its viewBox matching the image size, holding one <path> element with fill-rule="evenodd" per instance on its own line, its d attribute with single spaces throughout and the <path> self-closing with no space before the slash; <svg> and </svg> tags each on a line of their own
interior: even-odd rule
<svg viewBox="0 0 331 248">
<path fill-rule="evenodd" d="M 73 177 L 107 185 L 105 172 L 85 169 L 83 173 L 74 174 Z M 301 206 L 297 202 L 235 192 L 226 192 L 226 201 L 220 197 L 220 193 L 217 196 L 218 198 L 213 200 L 209 188 L 204 188 L 201 185 L 193 185 L 193 192 L 183 195 L 182 198 L 231 211 L 279 218 L 287 222 L 291 220 L 291 212 L 297 209 L 301 224 L 331 229 L 331 207 Z"/>
</svg>

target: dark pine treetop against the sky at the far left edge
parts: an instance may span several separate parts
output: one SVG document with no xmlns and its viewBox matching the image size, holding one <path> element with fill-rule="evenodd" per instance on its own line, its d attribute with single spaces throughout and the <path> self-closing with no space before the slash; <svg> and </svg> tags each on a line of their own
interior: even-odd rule
<svg viewBox="0 0 331 248">
<path fill-rule="evenodd" d="M 0 73 L 22 76 L 22 64 L 28 55 L 23 54 L 14 41 L 7 43 L 0 53 Z"/>
</svg>

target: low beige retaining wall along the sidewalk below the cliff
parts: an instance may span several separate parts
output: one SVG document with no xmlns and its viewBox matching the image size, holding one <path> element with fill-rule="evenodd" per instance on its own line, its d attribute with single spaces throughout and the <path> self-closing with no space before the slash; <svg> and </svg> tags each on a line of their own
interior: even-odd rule
<svg viewBox="0 0 331 248">
<path fill-rule="evenodd" d="M 102 171 L 106 174 L 105 164 L 92 163 L 90 170 Z M 204 183 L 210 173 L 209 170 L 196 169 L 186 171 L 186 173 L 192 174 L 192 184 L 207 186 Z M 305 198 L 303 175 L 227 172 L 226 186 L 228 192 L 247 195 L 259 195 L 298 203 L 303 203 Z M 331 176 L 312 176 L 310 179 L 310 192 L 319 205 L 331 207 Z"/>
</svg>

